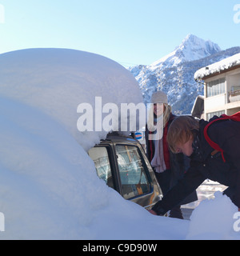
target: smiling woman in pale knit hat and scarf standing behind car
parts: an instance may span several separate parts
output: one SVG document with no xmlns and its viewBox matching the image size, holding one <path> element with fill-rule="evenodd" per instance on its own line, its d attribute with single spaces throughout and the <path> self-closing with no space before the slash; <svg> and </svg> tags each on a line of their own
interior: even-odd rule
<svg viewBox="0 0 240 256">
<path fill-rule="evenodd" d="M 183 154 L 170 152 L 166 142 L 168 127 L 174 118 L 166 94 L 162 91 L 155 92 L 151 98 L 146 126 L 146 154 L 163 195 L 183 177 L 189 166 L 188 159 Z M 181 205 L 198 200 L 196 192 L 183 199 L 185 200 L 170 210 L 171 218 L 182 218 Z"/>
</svg>

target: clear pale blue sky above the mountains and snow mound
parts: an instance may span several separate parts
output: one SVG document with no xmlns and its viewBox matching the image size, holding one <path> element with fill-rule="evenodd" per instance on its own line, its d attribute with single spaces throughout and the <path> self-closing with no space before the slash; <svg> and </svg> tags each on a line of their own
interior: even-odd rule
<svg viewBox="0 0 240 256">
<path fill-rule="evenodd" d="M 134 66 L 169 54 L 187 34 L 225 50 L 240 46 L 237 4 L 240 0 L 0 0 L 0 53 L 60 47 Z"/>
</svg>

